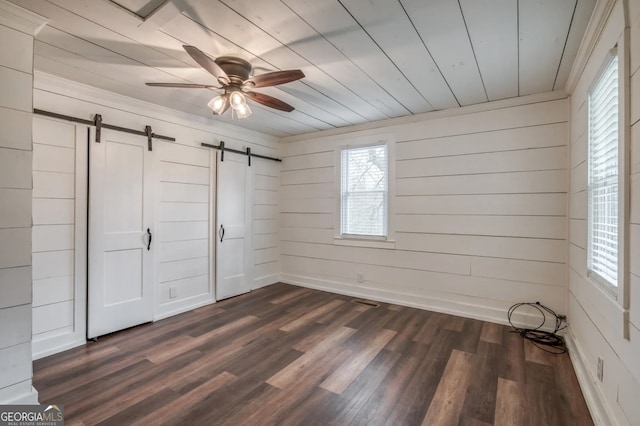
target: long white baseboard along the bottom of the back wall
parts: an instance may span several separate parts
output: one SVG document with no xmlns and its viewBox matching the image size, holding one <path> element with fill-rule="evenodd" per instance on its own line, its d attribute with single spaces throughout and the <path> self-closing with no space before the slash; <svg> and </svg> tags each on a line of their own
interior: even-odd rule
<svg viewBox="0 0 640 426">
<path fill-rule="evenodd" d="M 428 311 L 441 312 L 466 318 L 473 318 L 481 321 L 509 325 L 506 310 L 488 307 L 480 304 L 474 305 L 469 303 L 462 303 L 453 299 L 439 299 L 425 295 L 374 289 L 352 283 L 319 280 L 316 278 L 293 274 L 283 274 L 280 276 L 280 280 L 284 283 L 293 284 L 300 287 L 308 287 L 316 290 L 328 291 L 331 293 L 376 300 L 378 302 L 393 303 L 395 305 L 408 306 L 411 308 L 424 309 Z M 521 314 L 519 312 L 515 312 L 511 320 L 515 325 L 521 327 L 537 327 L 540 324 L 540 317 L 529 314 Z M 553 329 L 547 327 L 543 329 L 547 331 L 553 331 Z"/>
</svg>

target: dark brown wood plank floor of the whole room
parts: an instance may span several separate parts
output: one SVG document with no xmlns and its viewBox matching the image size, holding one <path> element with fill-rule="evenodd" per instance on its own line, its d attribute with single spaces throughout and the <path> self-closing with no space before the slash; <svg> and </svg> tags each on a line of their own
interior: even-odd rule
<svg viewBox="0 0 640 426">
<path fill-rule="evenodd" d="M 567 354 L 277 284 L 34 363 L 67 424 L 588 425 Z"/>
</svg>

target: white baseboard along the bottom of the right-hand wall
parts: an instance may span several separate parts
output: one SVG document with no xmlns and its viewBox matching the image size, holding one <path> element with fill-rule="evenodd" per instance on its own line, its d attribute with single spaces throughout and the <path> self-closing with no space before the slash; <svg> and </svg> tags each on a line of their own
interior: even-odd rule
<svg viewBox="0 0 640 426">
<path fill-rule="evenodd" d="M 567 342 L 567 348 L 569 349 L 569 357 L 573 364 L 573 369 L 576 372 L 580 389 L 582 389 L 582 395 L 587 403 L 589 412 L 593 422 L 596 425 L 613 425 L 614 417 L 610 414 L 610 410 L 607 408 L 606 399 L 600 387 L 596 382 L 596 378 L 593 376 L 591 370 L 587 368 L 586 357 L 582 351 L 582 347 L 575 339 L 571 327 L 567 327 L 564 334 L 564 340 Z"/>
</svg>

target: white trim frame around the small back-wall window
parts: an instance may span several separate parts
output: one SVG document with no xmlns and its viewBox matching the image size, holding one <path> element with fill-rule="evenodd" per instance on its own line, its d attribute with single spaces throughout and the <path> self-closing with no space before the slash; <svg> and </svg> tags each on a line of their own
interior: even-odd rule
<svg viewBox="0 0 640 426">
<path fill-rule="evenodd" d="M 354 235 L 342 233 L 342 151 L 350 148 L 386 145 L 387 147 L 387 235 Z M 395 141 L 390 134 L 372 134 L 344 140 L 335 147 L 334 177 L 334 238 L 333 243 L 340 246 L 395 248 Z"/>
</svg>

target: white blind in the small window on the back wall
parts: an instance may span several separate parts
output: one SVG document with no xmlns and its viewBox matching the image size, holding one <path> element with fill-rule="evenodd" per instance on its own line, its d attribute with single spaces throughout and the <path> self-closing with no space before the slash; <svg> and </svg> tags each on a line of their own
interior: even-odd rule
<svg viewBox="0 0 640 426">
<path fill-rule="evenodd" d="M 387 235 L 386 145 L 345 148 L 341 153 L 341 233 Z"/>
</svg>

